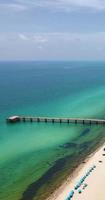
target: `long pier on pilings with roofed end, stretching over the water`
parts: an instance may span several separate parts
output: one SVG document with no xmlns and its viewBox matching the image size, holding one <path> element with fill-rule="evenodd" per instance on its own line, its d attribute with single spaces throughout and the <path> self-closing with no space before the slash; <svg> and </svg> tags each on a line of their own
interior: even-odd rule
<svg viewBox="0 0 105 200">
<path fill-rule="evenodd" d="M 85 119 L 85 118 L 56 118 L 56 117 L 26 117 L 12 116 L 7 118 L 7 122 L 44 122 L 44 123 L 74 123 L 74 124 L 103 124 L 105 119 Z"/>
</svg>

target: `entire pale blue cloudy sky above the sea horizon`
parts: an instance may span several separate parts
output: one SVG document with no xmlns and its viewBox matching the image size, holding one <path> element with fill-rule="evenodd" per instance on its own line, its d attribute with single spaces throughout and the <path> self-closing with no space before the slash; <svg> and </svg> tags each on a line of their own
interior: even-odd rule
<svg viewBox="0 0 105 200">
<path fill-rule="evenodd" d="M 105 0 L 0 0 L 0 60 L 105 60 Z"/>
</svg>

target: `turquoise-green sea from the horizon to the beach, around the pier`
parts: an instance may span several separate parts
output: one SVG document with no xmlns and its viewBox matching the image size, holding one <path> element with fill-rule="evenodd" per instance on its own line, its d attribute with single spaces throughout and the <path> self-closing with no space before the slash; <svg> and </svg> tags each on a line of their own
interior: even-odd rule
<svg viewBox="0 0 105 200">
<path fill-rule="evenodd" d="M 43 191 L 46 196 L 53 191 L 78 153 L 104 140 L 105 131 L 104 126 L 7 124 L 5 118 L 104 118 L 104 99 L 105 62 L 0 62 L 0 199 L 44 199 Z"/>
</svg>

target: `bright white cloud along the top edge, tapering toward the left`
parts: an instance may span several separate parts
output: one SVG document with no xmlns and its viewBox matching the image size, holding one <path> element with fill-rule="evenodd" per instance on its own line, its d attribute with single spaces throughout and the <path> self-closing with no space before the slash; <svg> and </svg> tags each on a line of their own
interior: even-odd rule
<svg viewBox="0 0 105 200">
<path fill-rule="evenodd" d="M 77 9 L 105 10 L 105 0 L 17 0 L 17 2 L 28 6 L 66 11 Z"/>
</svg>

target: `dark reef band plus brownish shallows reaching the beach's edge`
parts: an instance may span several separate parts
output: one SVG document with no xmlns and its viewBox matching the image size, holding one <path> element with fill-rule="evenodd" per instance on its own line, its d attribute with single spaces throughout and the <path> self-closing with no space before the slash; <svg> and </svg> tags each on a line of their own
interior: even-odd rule
<svg viewBox="0 0 105 200">
<path fill-rule="evenodd" d="M 93 141 L 81 144 L 66 143 L 65 148 L 69 148 L 69 145 L 73 147 L 76 145 L 75 152 L 55 161 L 54 165 L 42 177 L 27 187 L 20 200 L 46 199 L 101 143 L 103 143 L 102 135 L 97 136 Z"/>
</svg>

